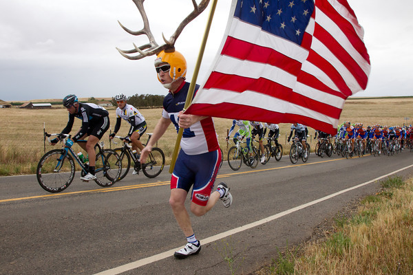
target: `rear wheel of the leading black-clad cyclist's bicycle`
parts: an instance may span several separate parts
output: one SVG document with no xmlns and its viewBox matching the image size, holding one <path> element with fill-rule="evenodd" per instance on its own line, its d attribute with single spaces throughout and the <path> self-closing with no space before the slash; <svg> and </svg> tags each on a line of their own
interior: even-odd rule
<svg viewBox="0 0 413 275">
<path fill-rule="evenodd" d="M 103 149 L 96 155 L 95 182 L 98 186 L 109 187 L 114 185 L 120 176 L 122 162 L 118 153 L 112 149 Z"/>
</svg>

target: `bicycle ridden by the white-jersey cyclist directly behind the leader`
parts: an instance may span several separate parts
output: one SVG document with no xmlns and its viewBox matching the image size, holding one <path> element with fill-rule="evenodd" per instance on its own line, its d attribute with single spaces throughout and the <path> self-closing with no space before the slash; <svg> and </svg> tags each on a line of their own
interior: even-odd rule
<svg viewBox="0 0 413 275">
<path fill-rule="evenodd" d="M 148 135 L 148 140 L 146 144 L 149 142 L 151 139 L 152 134 L 147 133 Z M 125 140 L 126 137 L 120 137 L 118 135 L 115 135 L 120 140 Z M 114 142 L 114 144 L 117 144 Z M 144 146 L 146 144 L 143 144 Z M 123 147 L 119 148 L 114 148 L 114 151 L 118 153 L 120 161 L 122 162 L 122 167 L 125 168 L 120 172 L 120 175 L 118 177 L 118 181 L 123 179 L 127 173 L 129 172 L 129 169 L 131 167 L 131 160 L 134 162 L 134 170 L 139 173 L 139 170 L 142 169 L 142 172 L 145 174 L 145 176 L 149 178 L 157 177 L 163 170 L 165 166 L 165 154 L 163 151 L 158 148 L 158 147 L 153 147 L 151 153 L 149 153 L 147 157 L 147 161 L 145 164 L 140 165 L 140 162 L 136 155 L 132 151 L 132 146 L 129 144 L 129 142 L 124 142 Z"/>
</svg>

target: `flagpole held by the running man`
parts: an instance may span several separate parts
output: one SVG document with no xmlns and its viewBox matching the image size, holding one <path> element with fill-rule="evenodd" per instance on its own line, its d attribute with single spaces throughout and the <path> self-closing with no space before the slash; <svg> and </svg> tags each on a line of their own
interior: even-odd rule
<svg viewBox="0 0 413 275">
<path fill-rule="evenodd" d="M 202 39 L 202 43 L 200 47 L 200 53 L 198 54 L 198 60 L 196 61 L 191 84 L 189 85 L 187 99 L 185 100 L 184 111 L 189 107 L 189 105 L 192 102 L 193 91 L 195 91 L 196 78 L 198 78 L 198 73 L 200 71 L 202 56 L 204 56 L 205 45 L 207 44 L 208 34 L 209 34 L 209 30 L 211 29 L 213 14 L 215 12 L 217 2 L 218 0 L 212 1 L 211 10 L 209 12 L 209 17 L 208 17 L 208 22 L 207 22 L 207 27 L 205 28 L 204 38 Z M 171 166 L 169 167 L 169 173 L 171 174 L 173 173 L 173 168 L 175 168 L 175 162 L 176 162 L 176 158 L 178 157 L 178 151 L 179 151 L 180 141 L 182 139 L 183 132 L 184 132 L 184 129 L 180 128 L 178 131 L 178 137 L 176 137 L 175 149 L 173 150 Z"/>
</svg>

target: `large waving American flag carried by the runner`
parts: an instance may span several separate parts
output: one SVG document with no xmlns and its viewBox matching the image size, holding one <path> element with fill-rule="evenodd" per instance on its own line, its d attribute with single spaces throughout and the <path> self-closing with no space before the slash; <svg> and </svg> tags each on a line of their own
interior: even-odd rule
<svg viewBox="0 0 413 275">
<path fill-rule="evenodd" d="M 336 133 L 370 58 L 346 0 L 233 0 L 210 73 L 187 113 L 298 122 Z"/>
</svg>

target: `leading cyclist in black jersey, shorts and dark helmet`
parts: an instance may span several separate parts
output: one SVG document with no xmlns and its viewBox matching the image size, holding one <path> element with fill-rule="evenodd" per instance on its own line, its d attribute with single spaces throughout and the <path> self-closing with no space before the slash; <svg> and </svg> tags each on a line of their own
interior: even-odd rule
<svg viewBox="0 0 413 275">
<path fill-rule="evenodd" d="M 100 107 L 93 103 L 81 103 L 78 102 L 78 98 L 74 94 L 70 94 L 63 99 L 63 106 L 66 107 L 69 112 L 69 121 L 63 129 L 62 133 L 70 133 L 72 131 L 72 126 L 74 118 L 80 118 L 82 120 L 81 129 L 72 137 L 68 139 L 65 146 L 71 147 L 74 142 L 78 140 L 83 140 L 85 137 L 89 137 L 87 142 L 79 142 L 89 157 L 89 173 L 84 177 L 81 177 L 84 181 L 89 181 L 96 179 L 94 173 L 96 164 L 96 152 L 94 151 L 94 146 L 98 143 L 103 134 L 109 129 L 109 112 L 103 107 Z M 59 142 L 59 138 L 54 138 L 50 140 L 50 144 L 55 145 Z"/>
</svg>

